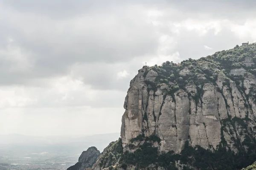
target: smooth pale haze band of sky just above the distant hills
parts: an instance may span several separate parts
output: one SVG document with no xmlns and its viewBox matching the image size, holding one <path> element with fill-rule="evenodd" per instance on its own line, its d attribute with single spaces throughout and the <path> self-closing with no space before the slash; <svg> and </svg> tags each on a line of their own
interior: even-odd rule
<svg viewBox="0 0 256 170">
<path fill-rule="evenodd" d="M 74 136 L 120 131 L 123 108 L 63 107 L 6 108 L 0 114 L 0 133 L 31 136 Z M 111 113 L 111 114 L 106 114 Z"/>
</svg>

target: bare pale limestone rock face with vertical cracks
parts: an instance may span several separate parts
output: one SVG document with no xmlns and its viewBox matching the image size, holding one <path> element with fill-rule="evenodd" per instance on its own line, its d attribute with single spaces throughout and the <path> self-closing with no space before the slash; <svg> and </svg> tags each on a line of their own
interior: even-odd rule
<svg viewBox="0 0 256 170">
<path fill-rule="evenodd" d="M 162 83 L 156 89 L 151 87 L 158 76 L 156 71 L 148 71 L 146 67 L 131 81 L 125 98 L 125 113 L 122 116 L 121 137 L 124 151 L 131 144 L 131 139 L 138 135 L 160 138 L 159 150 L 173 150 L 180 153 L 186 141 L 195 147 L 216 149 L 221 140 L 237 151 L 234 141 L 243 141 L 247 134 L 241 125 L 226 123 L 228 119 L 242 121 L 249 117 L 247 133 L 255 134 L 256 105 L 250 97 L 246 97 L 256 84 L 256 78 L 244 68 L 233 69 L 229 75 L 247 74 L 240 85 L 227 78 L 219 71 L 215 82 L 207 82 L 196 86 L 193 82 L 186 84 L 186 90 L 178 90 L 169 94 L 168 83 Z M 188 70 L 180 71 L 180 76 L 189 74 Z M 202 80 L 203 75 L 198 75 Z M 226 82 L 229 82 L 227 85 Z M 170 84 L 169 84 L 170 85 Z M 243 85 L 245 91 L 241 91 Z M 250 105 L 251 107 L 248 107 Z"/>
</svg>

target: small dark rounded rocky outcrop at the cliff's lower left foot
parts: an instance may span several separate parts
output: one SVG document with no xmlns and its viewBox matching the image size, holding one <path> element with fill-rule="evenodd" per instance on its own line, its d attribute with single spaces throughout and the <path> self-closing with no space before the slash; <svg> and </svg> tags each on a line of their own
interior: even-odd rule
<svg viewBox="0 0 256 170">
<path fill-rule="evenodd" d="M 96 147 L 89 147 L 86 151 L 83 151 L 78 159 L 78 162 L 67 168 L 67 170 L 84 170 L 86 168 L 92 167 L 96 163 L 98 157 L 100 156 L 100 151 Z"/>
</svg>

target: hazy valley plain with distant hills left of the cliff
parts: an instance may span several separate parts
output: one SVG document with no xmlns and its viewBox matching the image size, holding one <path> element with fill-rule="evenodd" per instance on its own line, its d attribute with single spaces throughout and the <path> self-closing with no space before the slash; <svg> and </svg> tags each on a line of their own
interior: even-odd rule
<svg viewBox="0 0 256 170">
<path fill-rule="evenodd" d="M 96 146 L 101 152 L 120 133 L 92 136 L 0 136 L 0 170 L 66 170 L 83 150 Z"/>
</svg>

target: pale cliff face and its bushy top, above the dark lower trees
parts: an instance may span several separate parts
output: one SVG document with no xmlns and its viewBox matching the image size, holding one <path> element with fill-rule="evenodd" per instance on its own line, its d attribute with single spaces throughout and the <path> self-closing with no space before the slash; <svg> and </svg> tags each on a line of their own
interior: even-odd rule
<svg viewBox="0 0 256 170">
<path fill-rule="evenodd" d="M 255 44 L 240 48 L 250 51 L 252 47 Z M 248 54 L 252 56 L 232 55 L 240 48 L 179 65 L 165 62 L 140 69 L 125 98 L 123 147 L 139 135 L 156 135 L 160 151 L 175 153 L 181 152 L 186 141 L 205 149 L 227 142 L 237 152 L 236 141 L 254 140 L 254 50 Z"/>
</svg>

